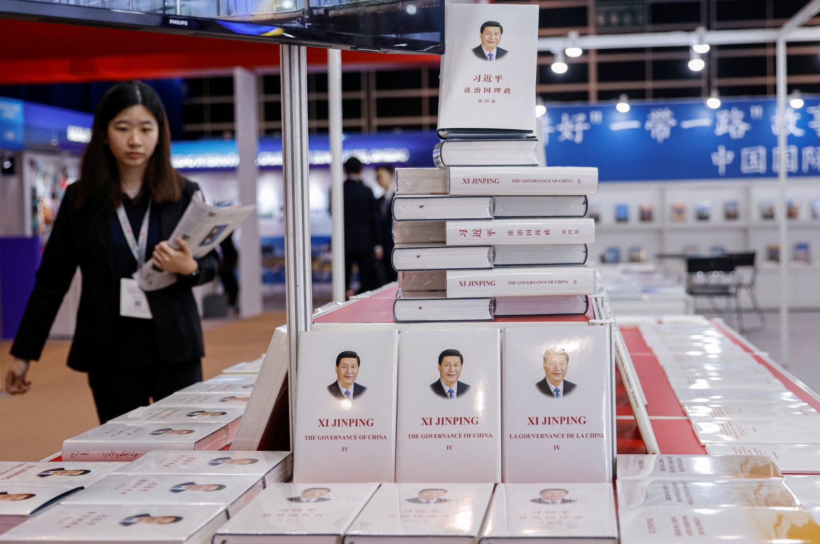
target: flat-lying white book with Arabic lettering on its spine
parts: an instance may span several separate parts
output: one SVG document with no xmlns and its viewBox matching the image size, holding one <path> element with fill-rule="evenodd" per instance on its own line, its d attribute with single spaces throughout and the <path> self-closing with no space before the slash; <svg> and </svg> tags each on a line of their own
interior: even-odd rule
<svg viewBox="0 0 820 544">
<path fill-rule="evenodd" d="M 133 461 L 152 450 L 219 450 L 227 444 L 227 428 L 221 423 L 106 423 L 63 441 L 62 457 Z"/>
</svg>

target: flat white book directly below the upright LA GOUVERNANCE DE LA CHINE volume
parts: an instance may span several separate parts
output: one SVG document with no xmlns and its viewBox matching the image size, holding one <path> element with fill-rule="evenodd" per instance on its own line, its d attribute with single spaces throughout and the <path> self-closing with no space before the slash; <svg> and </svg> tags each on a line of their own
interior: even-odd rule
<svg viewBox="0 0 820 544">
<path fill-rule="evenodd" d="M 502 483 L 480 544 L 617 542 L 611 483 Z"/>
</svg>

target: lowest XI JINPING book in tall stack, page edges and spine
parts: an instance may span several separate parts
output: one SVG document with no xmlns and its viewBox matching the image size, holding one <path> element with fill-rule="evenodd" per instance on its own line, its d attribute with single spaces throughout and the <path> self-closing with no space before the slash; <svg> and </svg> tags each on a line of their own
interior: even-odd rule
<svg viewBox="0 0 820 544">
<path fill-rule="evenodd" d="M 449 297 L 592 295 L 591 267 L 508 267 L 492 270 L 399 272 L 407 291 L 446 291 Z"/>
</svg>

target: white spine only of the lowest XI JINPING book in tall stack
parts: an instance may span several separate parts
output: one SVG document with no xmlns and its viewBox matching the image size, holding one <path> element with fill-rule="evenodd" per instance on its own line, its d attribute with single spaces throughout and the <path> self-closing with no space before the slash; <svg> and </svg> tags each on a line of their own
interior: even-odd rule
<svg viewBox="0 0 820 544">
<path fill-rule="evenodd" d="M 592 295 L 589 267 L 449 270 L 447 296 Z"/>
</svg>

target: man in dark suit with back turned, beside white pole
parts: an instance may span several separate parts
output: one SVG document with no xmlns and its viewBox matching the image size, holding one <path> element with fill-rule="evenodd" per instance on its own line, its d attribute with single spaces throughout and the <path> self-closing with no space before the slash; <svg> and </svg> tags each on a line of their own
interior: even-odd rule
<svg viewBox="0 0 820 544">
<path fill-rule="evenodd" d="M 378 210 L 376 197 L 370 187 L 362 182 L 362 162 L 351 157 L 344 162 L 344 285 L 347 295 L 353 295 L 350 288 L 351 271 L 356 263 L 359 271 L 358 293 L 380 287 L 376 259 L 383 253 L 377 247 L 376 220 Z"/>
</svg>

